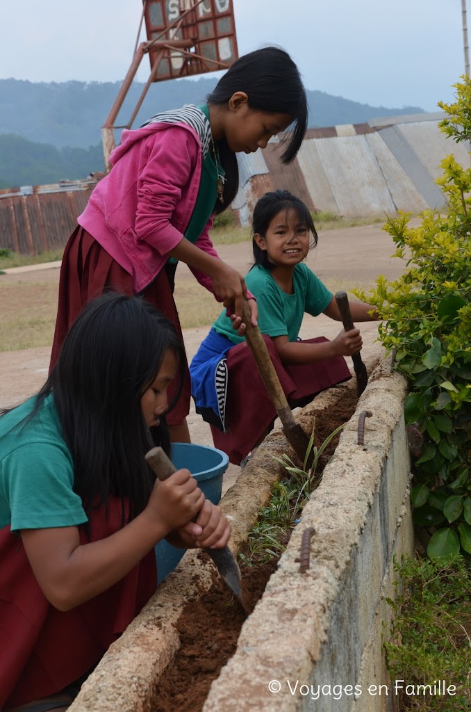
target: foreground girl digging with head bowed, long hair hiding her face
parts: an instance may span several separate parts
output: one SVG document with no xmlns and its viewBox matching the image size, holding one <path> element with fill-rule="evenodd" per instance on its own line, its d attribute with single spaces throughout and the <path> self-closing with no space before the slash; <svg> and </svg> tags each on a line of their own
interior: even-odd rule
<svg viewBox="0 0 471 712">
<path fill-rule="evenodd" d="M 70 705 L 155 591 L 159 540 L 228 542 L 228 521 L 188 470 L 156 481 L 144 460 L 157 445 L 169 452 L 166 412 L 184 370 L 169 320 L 109 293 L 75 320 L 41 391 L 1 414 L 4 712 Z"/>
</svg>

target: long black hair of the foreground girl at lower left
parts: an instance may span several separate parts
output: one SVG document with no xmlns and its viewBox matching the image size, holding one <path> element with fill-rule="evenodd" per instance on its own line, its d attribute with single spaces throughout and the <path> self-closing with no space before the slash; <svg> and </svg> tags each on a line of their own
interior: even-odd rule
<svg viewBox="0 0 471 712">
<path fill-rule="evenodd" d="M 132 519 L 147 505 L 155 481 L 144 454 L 159 444 L 169 452 L 165 419 L 149 429 L 140 399 L 167 350 L 174 352 L 179 388 L 184 347 L 173 325 L 144 299 L 105 293 L 83 308 L 65 337 L 51 375 L 28 420 L 53 394 L 63 437 L 73 459 L 74 491 L 86 513 L 110 496 L 125 501 Z M 19 424 L 21 426 L 21 424 Z"/>
</svg>

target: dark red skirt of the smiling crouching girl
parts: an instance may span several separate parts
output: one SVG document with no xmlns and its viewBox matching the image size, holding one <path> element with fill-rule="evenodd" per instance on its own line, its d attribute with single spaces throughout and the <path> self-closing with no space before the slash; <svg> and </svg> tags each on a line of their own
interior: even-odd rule
<svg viewBox="0 0 471 712">
<path fill-rule="evenodd" d="M 305 406 L 318 393 L 351 378 L 349 367 L 342 356 L 309 365 L 285 366 L 270 337 L 264 335 L 263 338 L 291 408 Z M 312 344 L 324 341 L 327 339 L 323 336 L 306 339 L 307 343 Z M 211 425 L 211 433 L 214 446 L 226 452 L 233 464 L 240 465 L 240 461 L 270 429 L 277 412 L 245 342 L 228 352 L 226 363 L 228 431 L 223 433 Z"/>
</svg>

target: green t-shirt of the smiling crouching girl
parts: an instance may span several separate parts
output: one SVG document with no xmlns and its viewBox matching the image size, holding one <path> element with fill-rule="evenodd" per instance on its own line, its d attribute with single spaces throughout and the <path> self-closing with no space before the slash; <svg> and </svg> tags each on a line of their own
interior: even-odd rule
<svg viewBox="0 0 471 712">
<path fill-rule="evenodd" d="M 332 300 L 332 292 L 304 263 L 297 264 L 293 271 L 292 294 L 284 292 L 272 278 L 270 270 L 260 266 L 250 270 L 245 284 L 257 298 L 260 331 L 271 337 L 287 335 L 290 341 L 296 341 L 305 312 L 317 316 Z M 226 311 L 216 319 L 213 328 L 234 344 L 244 340 L 232 328 Z"/>
</svg>

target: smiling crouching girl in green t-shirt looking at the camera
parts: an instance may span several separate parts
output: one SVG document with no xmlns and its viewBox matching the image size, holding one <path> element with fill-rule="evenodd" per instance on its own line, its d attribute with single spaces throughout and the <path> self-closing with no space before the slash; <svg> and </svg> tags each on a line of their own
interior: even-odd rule
<svg viewBox="0 0 471 712">
<path fill-rule="evenodd" d="M 332 292 L 304 264 L 317 244 L 312 216 L 286 190 L 266 193 L 253 211 L 254 264 L 245 283 L 257 298 L 258 325 L 291 407 L 350 378 L 344 356 L 361 349 L 358 329 L 329 341 L 300 340 L 305 313 L 342 321 Z M 374 307 L 351 303 L 354 321 L 376 320 Z M 373 310 L 373 312 L 371 311 Z M 221 313 L 190 365 L 196 412 L 211 424 L 214 445 L 234 464 L 272 428 L 276 411 L 245 345 L 238 315 Z"/>
</svg>

